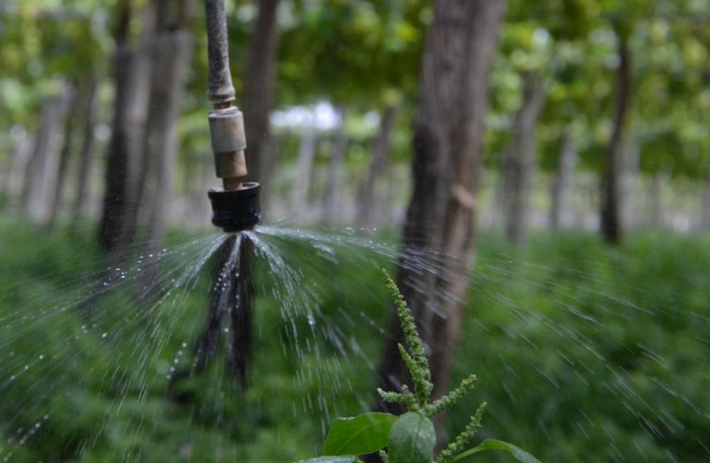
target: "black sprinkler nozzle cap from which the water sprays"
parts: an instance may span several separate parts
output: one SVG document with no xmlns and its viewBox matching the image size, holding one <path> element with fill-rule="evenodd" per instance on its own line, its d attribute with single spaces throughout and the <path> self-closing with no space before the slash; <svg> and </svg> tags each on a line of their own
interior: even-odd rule
<svg viewBox="0 0 710 463">
<path fill-rule="evenodd" d="M 261 220 L 256 182 L 243 183 L 239 190 L 212 189 L 207 195 L 212 203 L 212 224 L 226 232 L 253 229 Z"/>
</svg>

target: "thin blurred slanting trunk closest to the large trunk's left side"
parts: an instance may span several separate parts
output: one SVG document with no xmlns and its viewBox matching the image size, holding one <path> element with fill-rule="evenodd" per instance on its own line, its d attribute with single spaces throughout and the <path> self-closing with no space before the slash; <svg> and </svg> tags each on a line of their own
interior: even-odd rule
<svg viewBox="0 0 710 463">
<path fill-rule="evenodd" d="M 398 108 L 394 106 L 386 107 L 385 111 L 383 111 L 380 122 L 380 133 L 377 136 L 372 151 L 370 167 L 360 187 L 356 223 L 359 227 L 365 229 L 371 228 L 375 219 L 374 208 L 376 201 L 379 200 L 377 194 L 378 180 L 382 178 L 385 173 L 397 113 Z"/>
</svg>

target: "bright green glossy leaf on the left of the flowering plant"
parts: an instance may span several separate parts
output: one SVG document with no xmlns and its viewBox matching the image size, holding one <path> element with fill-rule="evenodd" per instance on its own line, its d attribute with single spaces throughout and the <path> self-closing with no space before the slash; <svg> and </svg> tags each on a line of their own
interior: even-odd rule
<svg viewBox="0 0 710 463">
<path fill-rule="evenodd" d="M 364 413 L 354 418 L 336 418 L 325 440 L 327 455 L 359 455 L 377 452 L 387 445 L 392 425 L 389 413 Z"/>
</svg>

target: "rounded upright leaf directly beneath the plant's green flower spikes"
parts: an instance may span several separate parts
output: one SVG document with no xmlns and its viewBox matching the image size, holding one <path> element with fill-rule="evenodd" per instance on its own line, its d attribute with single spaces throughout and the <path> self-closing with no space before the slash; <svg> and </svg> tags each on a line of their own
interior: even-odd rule
<svg viewBox="0 0 710 463">
<path fill-rule="evenodd" d="M 420 413 L 397 418 L 390 432 L 390 463 L 429 463 L 434 457 L 437 435 L 434 423 Z"/>
</svg>

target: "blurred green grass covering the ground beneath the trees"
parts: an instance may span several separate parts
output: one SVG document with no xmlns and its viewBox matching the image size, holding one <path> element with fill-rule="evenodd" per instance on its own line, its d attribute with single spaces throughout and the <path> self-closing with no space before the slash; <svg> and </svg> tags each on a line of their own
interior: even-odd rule
<svg viewBox="0 0 710 463">
<path fill-rule="evenodd" d="M 234 386 L 221 354 L 174 403 L 167 376 L 190 365 L 207 271 L 161 305 L 167 291 L 119 285 L 90 299 L 87 318 L 76 301 L 104 277 L 90 229 L 44 235 L 0 219 L 0 236 L 0 442 L 11 440 L 0 458 L 290 462 L 320 451 L 334 416 L 371 403 L 388 258 L 270 239 L 308 297 L 284 307 L 288 288 L 262 266 L 251 386 Z M 209 244 L 191 239 L 171 236 L 166 249 L 180 251 L 156 268 L 184 273 Z M 454 373 L 479 381 L 447 427 L 488 401 L 481 437 L 543 461 L 707 461 L 708 268 L 710 242 L 686 236 L 636 234 L 615 250 L 596 236 L 540 234 L 525 252 L 483 236 Z M 153 273 L 165 288 L 173 278 Z"/>
</svg>

